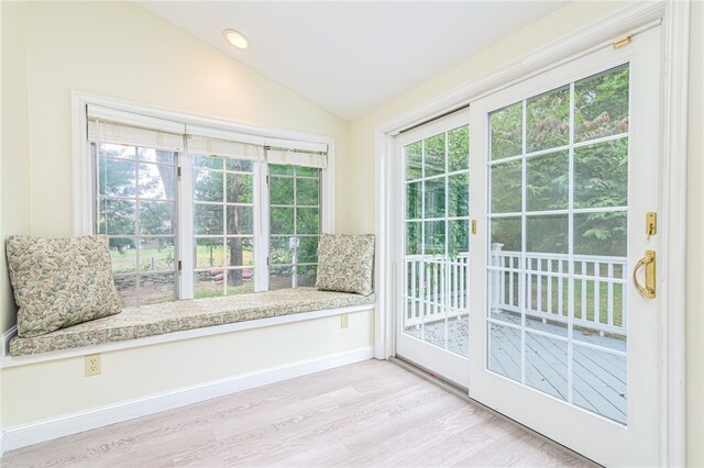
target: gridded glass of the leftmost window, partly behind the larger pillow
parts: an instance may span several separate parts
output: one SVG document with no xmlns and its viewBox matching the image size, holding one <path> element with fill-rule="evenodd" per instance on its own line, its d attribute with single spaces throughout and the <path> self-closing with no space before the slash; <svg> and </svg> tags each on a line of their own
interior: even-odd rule
<svg viewBox="0 0 704 468">
<path fill-rule="evenodd" d="M 95 230 L 110 238 L 123 308 L 176 298 L 178 153 L 94 143 Z"/>
</svg>

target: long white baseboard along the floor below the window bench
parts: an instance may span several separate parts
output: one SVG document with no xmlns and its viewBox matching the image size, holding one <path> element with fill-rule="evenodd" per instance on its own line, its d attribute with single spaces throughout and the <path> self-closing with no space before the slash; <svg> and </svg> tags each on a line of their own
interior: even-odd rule
<svg viewBox="0 0 704 468">
<path fill-rule="evenodd" d="M 242 390 L 359 363 L 372 357 L 374 357 L 374 347 L 369 346 L 8 427 L 3 434 L 0 434 L 0 450 L 26 447 Z"/>
</svg>

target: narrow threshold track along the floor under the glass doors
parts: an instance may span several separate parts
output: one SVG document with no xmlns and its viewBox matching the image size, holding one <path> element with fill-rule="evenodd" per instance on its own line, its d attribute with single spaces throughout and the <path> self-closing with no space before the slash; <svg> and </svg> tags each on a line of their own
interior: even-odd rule
<svg viewBox="0 0 704 468">
<path fill-rule="evenodd" d="M 546 437 L 544 435 L 540 434 L 539 432 L 536 432 L 535 430 L 528 427 L 525 424 L 519 423 L 516 420 L 513 420 L 510 417 L 508 417 L 507 415 L 499 413 L 498 411 L 483 404 L 480 403 L 479 401 L 474 400 L 473 398 L 470 398 L 469 395 L 469 389 L 459 386 L 450 380 L 443 379 L 442 377 L 439 377 L 437 375 L 435 375 L 432 371 L 430 371 L 429 369 L 426 369 L 421 366 L 416 365 L 415 363 L 411 363 L 407 359 L 404 359 L 400 356 L 392 356 L 388 358 L 389 361 L 394 363 L 395 365 L 403 367 L 404 369 L 408 370 L 411 374 L 415 374 L 418 377 L 421 377 L 426 380 L 428 380 L 429 382 L 440 387 L 441 389 L 454 394 L 455 397 L 461 398 L 462 400 L 466 401 L 468 403 L 481 408 L 482 410 L 485 410 L 490 413 L 492 413 L 493 415 L 502 419 L 503 421 L 506 421 L 509 424 L 513 424 L 519 428 L 521 428 L 522 431 L 527 432 L 530 435 L 534 435 L 538 438 L 540 438 L 541 441 L 547 442 L 548 444 L 558 447 L 562 450 L 569 452 L 570 455 L 572 455 L 574 458 L 579 459 L 580 461 L 583 461 L 590 466 L 593 467 L 603 467 L 603 465 L 597 464 L 596 461 L 586 458 L 584 455 L 579 454 L 576 452 L 574 452 L 573 449 L 571 449 L 570 447 L 566 447 L 553 439 L 551 439 L 550 437 Z"/>
</svg>

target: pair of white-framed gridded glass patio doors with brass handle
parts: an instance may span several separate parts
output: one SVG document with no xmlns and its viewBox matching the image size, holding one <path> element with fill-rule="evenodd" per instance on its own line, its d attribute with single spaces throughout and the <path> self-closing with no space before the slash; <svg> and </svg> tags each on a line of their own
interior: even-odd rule
<svg viewBox="0 0 704 468">
<path fill-rule="evenodd" d="M 397 353 L 609 466 L 660 461 L 660 34 L 398 138 Z M 462 118 L 469 200 L 451 183 Z"/>
</svg>

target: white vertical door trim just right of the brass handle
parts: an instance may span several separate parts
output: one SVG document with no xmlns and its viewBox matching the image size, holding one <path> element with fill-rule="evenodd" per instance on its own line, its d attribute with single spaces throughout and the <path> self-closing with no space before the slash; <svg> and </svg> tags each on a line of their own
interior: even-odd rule
<svg viewBox="0 0 704 468">
<path fill-rule="evenodd" d="M 686 156 L 690 1 L 668 2 L 664 16 L 662 158 L 662 466 L 686 465 Z"/>
</svg>

